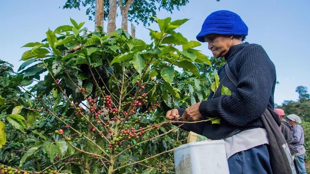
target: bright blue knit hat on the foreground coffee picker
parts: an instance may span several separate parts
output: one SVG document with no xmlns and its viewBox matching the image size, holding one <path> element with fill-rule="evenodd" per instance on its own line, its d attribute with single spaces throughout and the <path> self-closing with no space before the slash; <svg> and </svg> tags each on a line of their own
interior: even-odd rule
<svg viewBox="0 0 310 174">
<path fill-rule="evenodd" d="M 220 10 L 208 15 L 196 38 L 200 42 L 205 42 L 204 36 L 207 34 L 248 35 L 248 26 L 238 14 Z"/>
</svg>

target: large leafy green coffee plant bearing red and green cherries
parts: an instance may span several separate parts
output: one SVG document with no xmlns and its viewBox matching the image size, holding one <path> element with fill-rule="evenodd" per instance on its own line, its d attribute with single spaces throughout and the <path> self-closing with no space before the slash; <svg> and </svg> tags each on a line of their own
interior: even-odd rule
<svg viewBox="0 0 310 174">
<path fill-rule="evenodd" d="M 175 31 L 187 19 L 155 20 L 151 44 L 121 29 L 86 33 L 73 19 L 25 44 L 14 76 L 23 101 L 0 93 L 1 108 L 10 103 L 0 115 L 1 173 L 173 172 L 186 134 L 165 114 L 207 98 L 210 80 L 195 64 L 211 62 Z"/>
</svg>

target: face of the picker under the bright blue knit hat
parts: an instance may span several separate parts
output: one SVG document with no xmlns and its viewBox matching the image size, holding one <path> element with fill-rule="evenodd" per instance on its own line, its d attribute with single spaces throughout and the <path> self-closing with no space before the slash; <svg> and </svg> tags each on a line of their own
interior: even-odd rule
<svg viewBox="0 0 310 174">
<path fill-rule="evenodd" d="M 236 44 L 240 44 L 239 39 L 232 35 L 208 34 L 204 36 L 204 41 L 208 43 L 208 49 L 216 58 L 223 58 L 229 49 Z"/>
</svg>

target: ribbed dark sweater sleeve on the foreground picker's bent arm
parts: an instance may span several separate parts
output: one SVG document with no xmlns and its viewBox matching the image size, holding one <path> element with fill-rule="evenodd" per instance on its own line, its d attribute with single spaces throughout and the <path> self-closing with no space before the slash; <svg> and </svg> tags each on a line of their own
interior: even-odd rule
<svg viewBox="0 0 310 174">
<path fill-rule="evenodd" d="M 229 124 L 245 126 L 259 118 L 268 105 L 276 81 L 276 71 L 260 45 L 250 46 L 237 65 L 238 85 L 231 95 L 221 95 L 200 104 L 204 117 L 219 116 Z"/>
</svg>

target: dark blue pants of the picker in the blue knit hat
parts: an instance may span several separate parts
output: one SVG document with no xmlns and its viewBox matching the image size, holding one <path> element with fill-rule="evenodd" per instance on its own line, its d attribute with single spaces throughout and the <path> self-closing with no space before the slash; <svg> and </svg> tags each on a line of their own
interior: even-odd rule
<svg viewBox="0 0 310 174">
<path fill-rule="evenodd" d="M 230 174 L 272 174 L 267 145 L 233 154 L 228 166 Z"/>
</svg>

